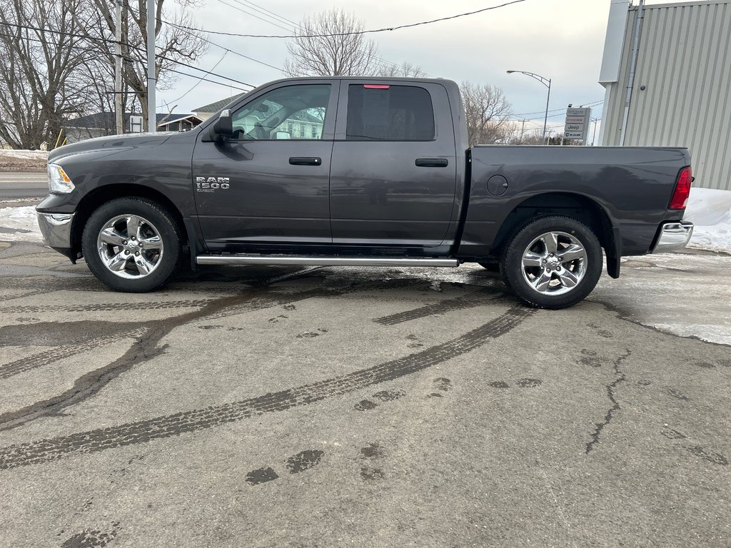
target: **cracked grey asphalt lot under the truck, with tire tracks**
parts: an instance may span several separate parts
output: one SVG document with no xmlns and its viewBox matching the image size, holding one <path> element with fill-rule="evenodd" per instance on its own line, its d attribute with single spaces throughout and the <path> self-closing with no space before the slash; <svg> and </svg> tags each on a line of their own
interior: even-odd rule
<svg viewBox="0 0 731 548">
<path fill-rule="evenodd" d="M 0 243 L 0 545 L 728 547 L 730 348 L 640 321 L 727 326 L 730 268 L 552 312 L 477 267 L 119 294 Z"/>
</svg>

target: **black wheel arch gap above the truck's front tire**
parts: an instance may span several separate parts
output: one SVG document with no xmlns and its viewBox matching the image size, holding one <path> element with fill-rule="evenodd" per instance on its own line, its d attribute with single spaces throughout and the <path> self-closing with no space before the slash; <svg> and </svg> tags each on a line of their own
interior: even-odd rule
<svg viewBox="0 0 731 548">
<path fill-rule="evenodd" d="M 183 247 L 187 245 L 186 223 L 183 220 L 183 215 L 180 210 L 175 207 L 175 204 L 170 198 L 156 189 L 151 189 L 149 186 L 137 185 L 135 183 L 116 183 L 113 185 L 99 186 L 86 194 L 81 202 L 79 202 L 72 227 L 72 246 L 75 251 L 78 253 L 81 252 L 81 236 L 86 226 L 86 221 L 88 221 L 91 214 L 99 206 L 117 198 L 144 198 L 155 202 L 173 218 L 175 224 L 178 226 L 178 232 L 185 239 Z"/>
</svg>

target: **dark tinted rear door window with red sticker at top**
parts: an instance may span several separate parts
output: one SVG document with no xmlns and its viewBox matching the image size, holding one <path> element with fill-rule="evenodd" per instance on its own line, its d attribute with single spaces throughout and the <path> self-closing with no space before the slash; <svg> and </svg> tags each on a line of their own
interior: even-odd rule
<svg viewBox="0 0 731 548">
<path fill-rule="evenodd" d="M 366 86 L 348 86 L 347 140 L 433 140 L 434 110 L 428 91 L 412 85 Z"/>
</svg>

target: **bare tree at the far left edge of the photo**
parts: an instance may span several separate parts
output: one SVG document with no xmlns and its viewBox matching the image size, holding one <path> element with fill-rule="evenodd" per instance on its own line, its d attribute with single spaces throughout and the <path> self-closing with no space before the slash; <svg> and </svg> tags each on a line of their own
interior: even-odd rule
<svg viewBox="0 0 731 548">
<path fill-rule="evenodd" d="M 13 148 L 39 148 L 83 109 L 79 5 L 0 0 L 0 137 Z"/>
</svg>

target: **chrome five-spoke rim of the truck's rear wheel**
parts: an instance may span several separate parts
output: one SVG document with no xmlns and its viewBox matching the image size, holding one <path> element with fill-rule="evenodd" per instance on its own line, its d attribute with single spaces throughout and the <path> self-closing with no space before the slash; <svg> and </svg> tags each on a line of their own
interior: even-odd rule
<svg viewBox="0 0 731 548">
<path fill-rule="evenodd" d="M 567 232 L 546 232 L 523 251 L 523 279 L 537 293 L 562 295 L 586 274 L 586 249 Z"/>
</svg>

